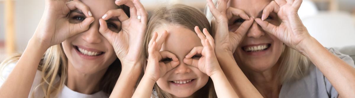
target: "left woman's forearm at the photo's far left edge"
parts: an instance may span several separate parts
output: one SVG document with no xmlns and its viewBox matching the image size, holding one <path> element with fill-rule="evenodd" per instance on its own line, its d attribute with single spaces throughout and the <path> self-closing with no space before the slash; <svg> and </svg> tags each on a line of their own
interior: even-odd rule
<svg viewBox="0 0 355 98">
<path fill-rule="evenodd" d="M 1 98 L 27 98 L 31 90 L 39 62 L 47 48 L 30 40 L 26 50 L 0 88 Z"/>
</svg>

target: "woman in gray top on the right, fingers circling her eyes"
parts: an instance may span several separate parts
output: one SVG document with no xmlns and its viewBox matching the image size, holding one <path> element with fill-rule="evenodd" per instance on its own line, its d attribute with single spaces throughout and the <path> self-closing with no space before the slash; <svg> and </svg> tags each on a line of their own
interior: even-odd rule
<svg viewBox="0 0 355 98">
<path fill-rule="evenodd" d="M 219 0 L 216 8 L 208 0 L 216 56 L 240 96 L 355 97 L 354 61 L 309 35 L 301 2 Z"/>
</svg>

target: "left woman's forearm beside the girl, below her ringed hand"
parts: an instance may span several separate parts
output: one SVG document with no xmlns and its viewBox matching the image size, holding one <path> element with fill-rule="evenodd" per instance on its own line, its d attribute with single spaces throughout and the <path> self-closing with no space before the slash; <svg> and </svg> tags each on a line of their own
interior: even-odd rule
<svg viewBox="0 0 355 98">
<path fill-rule="evenodd" d="M 133 65 L 133 66 L 131 66 Z M 137 80 L 142 72 L 141 63 L 122 63 L 122 71 L 110 98 L 131 98 Z"/>
</svg>

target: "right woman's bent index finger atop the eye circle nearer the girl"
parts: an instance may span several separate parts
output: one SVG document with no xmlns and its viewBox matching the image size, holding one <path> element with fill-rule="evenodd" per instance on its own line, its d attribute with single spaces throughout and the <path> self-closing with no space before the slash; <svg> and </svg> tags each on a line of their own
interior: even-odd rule
<svg viewBox="0 0 355 98">
<path fill-rule="evenodd" d="M 245 19 L 245 20 L 250 20 L 249 16 L 243 10 L 240 10 L 240 9 L 237 9 L 237 8 L 233 8 L 233 7 L 229 7 L 226 10 L 226 17 L 229 20 L 229 22 L 228 22 L 229 24 L 233 23 L 234 20 L 239 18 L 239 17 L 242 18 L 242 19 Z"/>
</svg>

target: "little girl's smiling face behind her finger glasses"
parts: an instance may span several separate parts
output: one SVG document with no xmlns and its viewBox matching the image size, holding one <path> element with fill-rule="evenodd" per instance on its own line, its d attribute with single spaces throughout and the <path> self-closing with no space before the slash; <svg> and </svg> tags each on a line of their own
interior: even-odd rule
<svg viewBox="0 0 355 98">
<path fill-rule="evenodd" d="M 180 61 L 180 65 L 168 71 L 157 81 L 157 84 L 163 91 L 174 97 L 191 97 L 193 93 L 207 84 L 209 78 L 198 68 L 183 62 L 185 56 L 190 53 L 193 47 L 202 46 L 201 40 L 195 32 L 181 26 L 162 27 L 157 30 L 159 37 L 164 30 L 168 31 L 169 35 L 160 51 L 169 51 L 175 54 Z M 193 59 L 200 59 L 200 57 L 201 55 L 196 55 Z M 169 62 L 169 60 L 162 61 Z"/>
</svg>

